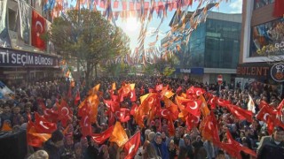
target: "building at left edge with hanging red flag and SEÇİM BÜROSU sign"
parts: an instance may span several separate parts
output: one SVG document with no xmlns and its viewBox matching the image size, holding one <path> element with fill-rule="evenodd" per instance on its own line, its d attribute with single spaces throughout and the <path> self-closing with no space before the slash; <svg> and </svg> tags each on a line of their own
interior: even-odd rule
<svg viewBox="0 0 284 159">
<path fill-rule="evenodd" d="M 59 56 L 43 40 L 51 19 L 43 13 L 42 3 L 2 0 L 0 22 L 0 80 L 30 83 L 59 74 Z"/>
</svg>

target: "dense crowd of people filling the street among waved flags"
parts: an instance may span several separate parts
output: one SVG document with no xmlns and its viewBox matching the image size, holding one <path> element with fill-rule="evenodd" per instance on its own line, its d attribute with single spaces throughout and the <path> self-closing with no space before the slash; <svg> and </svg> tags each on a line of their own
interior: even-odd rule
<svg viewBox="0 0 284 159">
<path fill-rule="evenodd" d="M 100 84 L 98 116 L 96 122 L 92 123 L 92 133 L 102 133 L 109 127 L 109 117 L 106 114 L 108 108 L 104 99 L 110 99 L 109 89 L 115 82 L 117 89 L 123 83 L 135 83 L 137 101 L 130 101 L 129 97 L 123 99 L 120 107 L 131 109 L 134 104 L 140 103 L 140 96 L 149 93 L 149 90 L 157 85 L 163 85 L 180 95 L 185 93 L 189 87 L 199 87 L 211 95 L 216 95 L 220 99 L 229 101 L 231 104 L 248 110 L 249 95 L 255 103 L 255 111 L 251 121 L 235 117 L 234 114 L 219 105 L 215 109 L 209 106 L 209 110 L 214 113 L 217 119 L 218 136 L 222 142 L 227 142 L 226 133 L 229 131 L 233 140 L 239 142 L 241 147 L 246 147 L 256 152 L 256 155 L 241 151 L 241 158 L 284 158 L 284 130 L 283 126 L 275 125 L 270 135 L 268 126 L 264 121 L 256 118 L 260 111 L 261 102 L 266 102 L 273 108 L 279 107 L 283 99 L 280 94 L 269 85 L 251 84 L 245 89 L 233 84 L 223 83 L 221 91 L 217 84 L 203 84 L 191 80 L 176 79 L 169 77 L 121 77 L 121 78 L 100 78 L 93 81 L 93 86 Z M 12 133 L 20 130 L 27 130 L 29 117 L 35 121 L 35 113 L 43 116 L 44 103 L 47 109 L 57 109 L 57 102 L 66 99 L 68 107 L 72 110 L 73 117 L 67 126 L 57 123 L 57 130 L 51 133 L 51 138 L 44 141 L 42 147 L 28 146 L 28 154 L 23 158 L 125 158 L 128 152 L 119 147 L 115 142 L 106 140 L 104 143 L 97 143 L 91 136 L 84 137 L 79 125 L 82 117 L 78 116 L 78 105 L 75 103 L 76 92 L 80 92 L 81 101 L 88 94 L 89 87 L 83 82 L 72 88 L 73 98 L 67 98 L 70 83 L 65 79 L 53 81 L 36 82 L 29 86 L 11 86 L 15 93 L 14 99 L 0 100 L 0 128 L 1 133 Z M 151 91 L 150 91 L 151 92 Z M 114 93 L 114 94 L 117 94 Z M 175 102 L 176 95 L 171 97 Z M 205 96 L 208 101 L 209 97 Z M 283 103 L 282 103 L 283 104 Z M 162 108 L 164 104 L 162 104 Z M 281 110 L 282 112 L 282 110 Z M 282 112 L 283 113 L 283 112 Z M 117 118 L 116 118 L 117 119 Z M 125 132 L 130 138 L 133 134 L 141 133 L 141 145 L 134 158 L 234 158 L 224 148 L 219 148 L 214 141 L 204 139 L 201 133 L 200 118 L 196 126 L 189 128 L 185 125 L 185 120 L 178 117 L 174 120 L 174 135 L 169 132 L 168 119 L 158 117 L 156 114 L 152 121 L 145 121 L 145 126 L 141 127 L 136 123 L 133 116 L 130 120 L 122 123 Z M 146 120 L 146 119 L 145 119 Z M 283 122 L 282 116 L 280 121 Z M 65 132 L 67 130 L 67 133 Z"/>
</svg>

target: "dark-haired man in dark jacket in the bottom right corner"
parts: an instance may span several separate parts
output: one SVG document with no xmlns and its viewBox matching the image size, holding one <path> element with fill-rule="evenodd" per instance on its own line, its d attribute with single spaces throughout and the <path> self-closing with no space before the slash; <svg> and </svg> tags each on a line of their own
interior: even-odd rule
<svg viewBox="0 0 284 159">
<path fill-rule="evenodd" d="M 257 158 L 284 158 L 284 129 L 280 126 L 274 128 L 271 136 L 264 136 L 256 149 Z"/>
</svg>

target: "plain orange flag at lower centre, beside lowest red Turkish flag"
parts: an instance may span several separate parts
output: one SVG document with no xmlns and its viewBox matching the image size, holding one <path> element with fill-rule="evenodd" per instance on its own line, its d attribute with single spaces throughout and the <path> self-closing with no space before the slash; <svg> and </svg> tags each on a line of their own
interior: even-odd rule
<svg viewBox="0 0 284 159">
<path fill-rule="evenodd" d="M 122 147 L 128 141 L 127 134 L 125 133 L 120 122 L 115 123 L 114 131 L 110 135 L 109 141 L 115 142 L 119 147 Z"/>
</svg>

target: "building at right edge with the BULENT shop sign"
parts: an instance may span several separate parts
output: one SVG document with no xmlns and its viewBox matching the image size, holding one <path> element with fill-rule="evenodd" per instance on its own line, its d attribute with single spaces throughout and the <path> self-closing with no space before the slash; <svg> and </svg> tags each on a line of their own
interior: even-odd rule
<svg viewBox="0 0 284 159">
<path fill-rule="evenodd" d="M 275 15 L 279 10 L 282 14 Z M 240 64 L 237 80 L 256 81 L 283 90 L 284 3 L 243 1 Z"/>
</svg>

